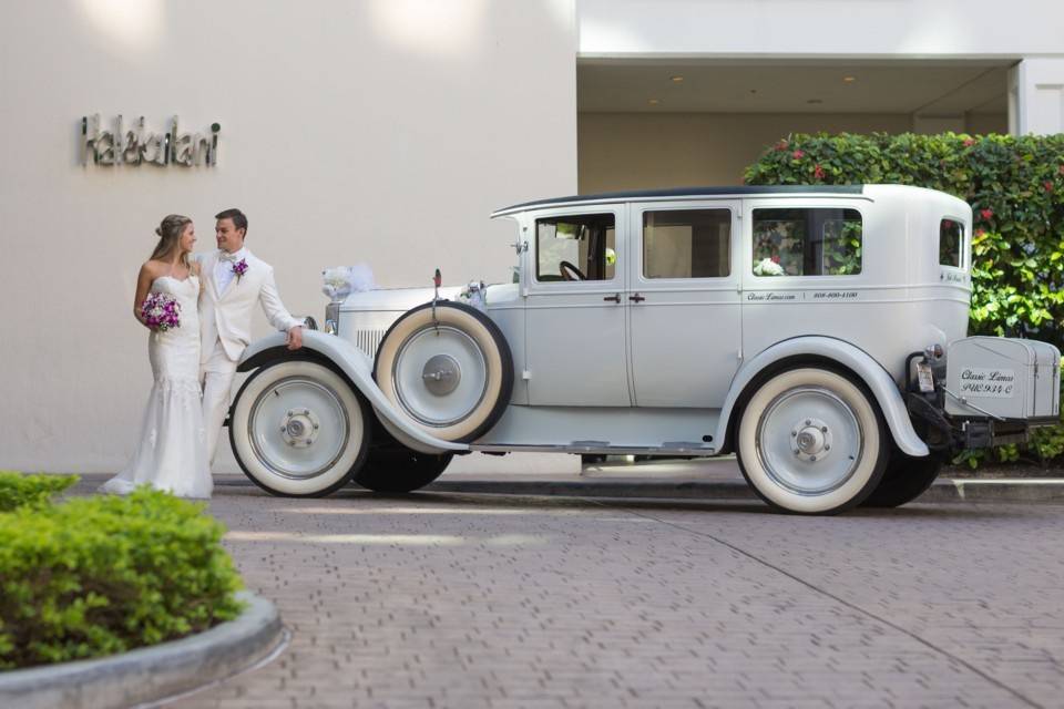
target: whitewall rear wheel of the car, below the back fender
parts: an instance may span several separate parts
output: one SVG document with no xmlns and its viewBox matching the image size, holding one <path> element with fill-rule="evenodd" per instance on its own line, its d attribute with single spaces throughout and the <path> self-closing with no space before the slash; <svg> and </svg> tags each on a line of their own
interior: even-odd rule
<svg viewBox="0 0 1064 709">
<path fill-rule="evenodd" d="M 747 402 L 736 452 L 755 492 L 774 507 L 831 514 L 879 484 L 889 432 L 867 391 L 836 371 L 807 367 L 774 376 Z"/>
</svg>

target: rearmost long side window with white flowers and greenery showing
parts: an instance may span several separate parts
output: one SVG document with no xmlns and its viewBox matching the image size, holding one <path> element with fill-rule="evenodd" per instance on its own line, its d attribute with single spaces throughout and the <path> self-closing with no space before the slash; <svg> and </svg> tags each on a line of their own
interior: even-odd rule
<svg viewBox="0 0 1064 709">
<path fill-rule="evenodd" d="M 754 275 L 860 274 L 862 233 L 857 209 L 754 209 Z"/>
</svg>

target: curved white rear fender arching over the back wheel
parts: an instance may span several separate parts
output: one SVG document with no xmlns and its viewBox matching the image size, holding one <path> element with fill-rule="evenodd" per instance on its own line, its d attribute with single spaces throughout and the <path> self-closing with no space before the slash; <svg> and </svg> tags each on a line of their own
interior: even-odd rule
<svg viewBox="0 0 1064 709">
<path fill-rule="evenodd" d="M 887 420 L 887 428 L 893 435 L 894 443 L 908 455 L 922 458 L 928 455 L 927 443 L 920 440 L 917 431 L 912 428 L 912 421 L 909 419 L 909 411 L 906 409 L 906 402 L 894 384 L 894 380 L 886 369 L 880 366 L 872 357 L 857 347 L 837 340 L 830 337 L 796 337 L 789 340 L 778 342 L 768 349 L 759 352 L 754 359 L 739 368 L 735 379 L 732 381 L 732 388 L 720 411 L 720 419 L 717 423 L 717 441 L 726 441 L 729 421 L 735 410 L 735 405 L 743 395 L 747 386 L 767 368 L 779 363 L 785 359 L 796 358 L 817 358 L 826 359 L 846 367 L 855 372 L 866 386 L 871 390 L 872 395 L 879 403 L 880 411 Z"/>
</svg>

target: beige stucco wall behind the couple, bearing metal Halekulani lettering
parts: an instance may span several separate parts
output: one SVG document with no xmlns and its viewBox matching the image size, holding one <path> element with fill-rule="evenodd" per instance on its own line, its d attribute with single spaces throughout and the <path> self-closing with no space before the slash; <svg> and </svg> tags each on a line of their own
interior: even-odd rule
<svg viewBox="0 0 1064 709">
<path fill-rule="evenodd" d="M 573 0 L 0 4 L 0 469 L 132 452 L 151 386 L 133 288 L 167 213 L 206 249 L 212 215 L 243 208 L 288 307 L 319 318 L 324 266 L 508 279 L 512 235 L 488 214 L 576 188 L 574 17 Z M 218 165 L 83 167 L 95 112 L 217 121 Z"/>
</svg>

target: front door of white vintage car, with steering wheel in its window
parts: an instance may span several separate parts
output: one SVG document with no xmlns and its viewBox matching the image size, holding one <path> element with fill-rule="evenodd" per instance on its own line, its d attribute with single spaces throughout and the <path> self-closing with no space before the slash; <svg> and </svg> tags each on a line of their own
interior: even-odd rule
<svg viewBox="0 0 1064 709">
<path fill-rule="evenodd" d="M 529 403 L 627 407 L 625 205 L 530 215 Z"/>
</svg>

